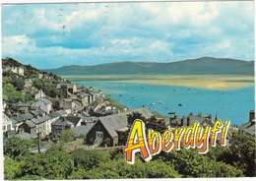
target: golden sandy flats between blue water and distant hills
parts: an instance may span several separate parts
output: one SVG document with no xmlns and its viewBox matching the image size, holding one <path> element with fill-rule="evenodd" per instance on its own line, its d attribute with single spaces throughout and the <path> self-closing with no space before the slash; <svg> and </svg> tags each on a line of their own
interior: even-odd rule
<svg viewBox="0 0 256 181">
<path fill-rule="evenodd" d="M 91 75 L 62 76 L 65 79 L 78 78 L 79 81 L 104 81 L 117 83 L 138 83 L 154 85 L 172 85 L 181 87 L 232 90 L 254 85 L 253 76 L 220 76 L 220 75 Z M 85 78 L 85 80 L 82 78 Z"/>
</svg>

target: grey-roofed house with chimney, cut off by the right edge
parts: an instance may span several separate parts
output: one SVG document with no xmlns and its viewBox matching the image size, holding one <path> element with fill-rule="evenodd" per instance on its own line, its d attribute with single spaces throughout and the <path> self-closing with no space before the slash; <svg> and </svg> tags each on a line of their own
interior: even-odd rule
<svg viewBox="0 0 256 181">
<path fill-rule="evenodd" d="M 249 112 L 249 122 L 242 124 L 238 128 L 238 134 L 255 138 L 255 111 Z"/>
</svg>

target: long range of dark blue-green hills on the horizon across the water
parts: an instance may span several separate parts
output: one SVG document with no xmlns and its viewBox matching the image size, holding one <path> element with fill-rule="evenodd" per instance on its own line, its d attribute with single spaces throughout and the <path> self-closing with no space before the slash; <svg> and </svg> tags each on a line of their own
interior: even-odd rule
<svg viewBox="0 0 256 181">
<path fill-rule="evenodd" d="M 254 75 L 254 61 L 201 57 L 178 62 L 117 62 L 44 69 L 57 75 Z"/>
</svg>

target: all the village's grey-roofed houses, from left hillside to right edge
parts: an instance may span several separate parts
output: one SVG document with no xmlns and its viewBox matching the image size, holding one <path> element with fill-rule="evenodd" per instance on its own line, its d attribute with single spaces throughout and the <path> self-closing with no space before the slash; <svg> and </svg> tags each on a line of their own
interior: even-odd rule
<svg viewBox="0 0 256 181">
<path fill-rule="evenodd" d="M 18 75 L 24 76 L 24 68 L 7 67 Z M 39 74 L 40 79 L 45 78 Z M 85 143 L 108 147 L 126 144 L 130 126 L 128 115 L 140 113 L 146 119 L 156 116 L 162 119 L 168 129 L 191 126 L 195 121 L 201 125 L 213 127 L 215 120 L 212 115 L 202 116 L 190 113 L 187 117 L 165 117 L 158 112 L 150 111 L 146 106 L 128 110 L 111 105 L 101 91 L 85 88 L 77 84 L 61 83 L 56 86 L 60 97 L 47 97 L 41 90 L 32 87 L 32 79 L 26 80 L 23 93 L 30 93 L 35 101 L 32 103 L 18 102 L 16 115 L 7 116 L 2 113 L 2 126 L 5 137 L 17 135 L 22 138 L 36 138 L 52 140 L 62 130 L 71 129 L 75 138 L 84 137 Z M 3 102 L 5 108 L 5 102 Z M 5 110 L 5 109 L 3 109 Z M 249 122 L 238 128 L 239 134 L 255 137 L 255 112 L 249 112 Z M 232 135 L 228 132 L 227 137 Z"/>
</svg>

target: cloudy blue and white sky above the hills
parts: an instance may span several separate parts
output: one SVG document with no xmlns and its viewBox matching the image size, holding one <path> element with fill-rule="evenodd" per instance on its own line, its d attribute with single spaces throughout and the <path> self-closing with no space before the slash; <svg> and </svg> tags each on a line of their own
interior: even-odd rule
<svg viewBox="0 0 256 181">
<path fill-rule="evenodd" d="M 2 58 L 38 69 L 254 60 L 253 1 L 2 5 Z"/>
</svg>

